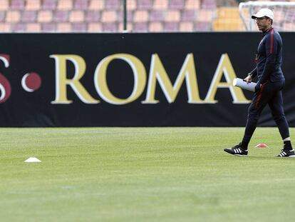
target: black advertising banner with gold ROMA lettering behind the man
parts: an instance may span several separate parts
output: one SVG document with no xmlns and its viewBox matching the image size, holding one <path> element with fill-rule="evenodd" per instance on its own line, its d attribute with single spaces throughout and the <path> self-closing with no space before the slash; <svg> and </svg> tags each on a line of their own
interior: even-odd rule
<svg viewBox="0 0 295 222">
<path fill-rule="evenodd" d="M 281 33 L 295 126 L 293 33 Z M 247 33 L 1 34 L 0 126 L 244 126 L 262 38 Z M 269 108 L 260 126 L 275 126 Z"/>
</svg>

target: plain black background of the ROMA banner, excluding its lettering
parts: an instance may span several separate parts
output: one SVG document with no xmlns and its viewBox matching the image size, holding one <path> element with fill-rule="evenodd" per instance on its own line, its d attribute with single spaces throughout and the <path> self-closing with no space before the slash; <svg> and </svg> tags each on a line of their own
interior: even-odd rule
<svg viewBox="0 0 295 222">
<path fill-rule="evenodd" d="M 284 108 L 290 126 L 295 126 L 294 39 L 281 33 L 284 45 L 283 71 L 286 78 Z M 175 102 L 169 104 L 157 83 L 158 104 L 142 104 L 145 91 L 130 104 L 103 101 L 95 90 L 93 74 L 98 63 L 112 54 L 132 54 L 143 62 L 147 75 L 152 54 L 158 54 L 172 83 L 187 54 L 194 54 L 200 97 L 204 99 L 222 54 L 228 54 L 237 77 L 244 78 L 254 68 L 254 54 L 260 33 L 171 33 L 171 34 L 1 34 L 0 54 L 10 56 L 8 68 L 0 72 L 11 84 L 10 98 L 0 104 L 0 126 L 244 126 L 249 104 L 232 104 L 229 89 L 217 89 L 217 104 L 188 104 L 185 83 Z M 55 61 L 52 54 L 76 54 L 86 61 L 81 84 L 99 104 L 84 104 L 68 86 L 72 104 L 51 104 L 56 96 Z M 36 72 L 42 84 L 35 92 L 21 86 L 24 74 Z M 73 76 L 68 64 L 68 78 Z M 148 76 L 147 76 L 148 78 Z M 108 67 L 108 86 L 114 96 L 126 98 L 133 89 L 133 74 L 123 61 Z M 251 92 L 244 91 L 247 99 Z M 267 107 L 260 126 L 274 126 Z"/>
</svg>

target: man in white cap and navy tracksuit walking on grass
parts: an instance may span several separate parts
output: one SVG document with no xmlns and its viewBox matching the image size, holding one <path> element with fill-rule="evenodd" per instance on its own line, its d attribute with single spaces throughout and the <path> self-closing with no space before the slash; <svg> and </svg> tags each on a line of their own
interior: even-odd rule
<svg viewBox="0 0 295 222">
<path fill-rule="evenodd" d="M 257 66 L 244 80 L 249 83 L 257 76 L 258 81 L 252 103 L 248 109 L 247 124 L 242 142 L 232 148 L 225 148 L 224 151 L 237 156 L 247 156 L 248 144 L 257 127 L 260 113 L 269 104 L 271 114 L 284 142 L 284 148 L 278 157 L 295 157 L 289 136 L 289 125 L 284 115 L 281 95 L 281 90 L 285 84 L 284 75 L 281 71 L 281 36 L 272 28 L 274 14 L 270 9 L 260 9 L 257 14 L 252 16 L 252 19 L 255 19 L 258 29 L 262 31 L 263 36 L 255 58 Z"/>
</svg>

